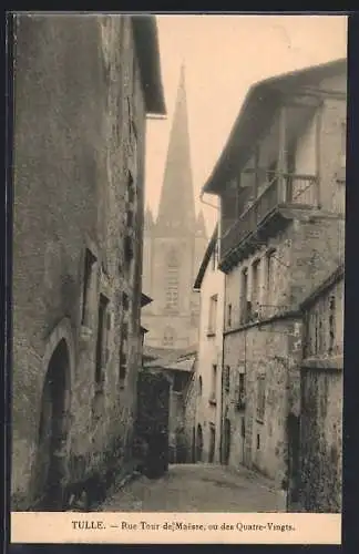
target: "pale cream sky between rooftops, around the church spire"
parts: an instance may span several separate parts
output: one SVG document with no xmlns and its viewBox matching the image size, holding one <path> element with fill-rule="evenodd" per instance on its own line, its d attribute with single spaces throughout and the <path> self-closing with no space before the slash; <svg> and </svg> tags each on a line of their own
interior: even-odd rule
<svg viewBox="0 0 359 554">
<path fill-rule="evenodd" d="M 199 202 L 252 84 L 347 55 L 346 16 L 157 16 L 167 116 L 148 120 L 146 205 L 156 216 L 168 136 L 185 64 L 196 211 L 208 234 L 217 211 Z M 215 197 L 206 196 L 215 202 Z"/>
</svg>

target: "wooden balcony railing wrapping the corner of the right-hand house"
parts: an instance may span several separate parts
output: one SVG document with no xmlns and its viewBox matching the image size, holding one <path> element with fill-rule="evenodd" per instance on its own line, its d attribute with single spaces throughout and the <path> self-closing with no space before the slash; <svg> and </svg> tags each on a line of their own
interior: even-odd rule
<svg viewBox="0 0 359 554">
<path fill-rule="evenodd" d="M 316 176 L 267 172 L 267 177 L 269 184 L 222 236 L 222 268 L 230 252 L 247 243 L 249 237 L 254 238 L 255 232 L 260 235 L 277 219 L 274 216 L 279 215 L 280 208 L 316 208 L 318 205 Z"/>
</svg>

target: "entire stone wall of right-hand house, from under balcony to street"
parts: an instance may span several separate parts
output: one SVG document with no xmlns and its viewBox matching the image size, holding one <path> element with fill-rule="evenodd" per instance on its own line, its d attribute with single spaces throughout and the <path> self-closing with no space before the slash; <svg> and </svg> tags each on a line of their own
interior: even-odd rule
<svg viewBox="0 0 359 554">
<path fill-rule="evenodd" d="M 296 463 L 290 461 L 295 454 L 287 424 L 289 416 L 298 418 L 300 413 L 301 317 L 271 322 L 269 319 L 284 312 L 298 312 L 300 301 L 338 265 L 342 226 L 343 219 L 338 217 L 297 215 L 226 275 L 224 368 L 229 368 L 230 390 L 224 392 L 223 413 L 232 428 L 229 464 L 256 466 L 276 479 L 278 485 L 289 479 Z M 275 259 L 268 288 L 266 255 L 273 248 Z M 258 317 L 243 326 L 240 275 L 247 268 L 249 300 L 253 298 L 253 261 L 258 259 Z M 245 373 L 246 401 L 242 409 L 236 407 L 238 373 Z M 256 417 L 260 375 L 265 376 L 264 421 Z M 297 448 L 298 437 L 294 440 Z"/>
</svg>

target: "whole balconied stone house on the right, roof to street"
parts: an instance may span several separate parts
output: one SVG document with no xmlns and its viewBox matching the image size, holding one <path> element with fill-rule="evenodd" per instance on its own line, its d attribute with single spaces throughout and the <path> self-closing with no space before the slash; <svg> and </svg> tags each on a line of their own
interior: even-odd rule
<svg viewBox="0 0 359 554">
<path fill-rule="evenodd" d="M 299 306 L 343 256 L 346 85 L 346 60 L 254 85 L 203 188 L 220 197 L 225 461 L 285 491 L 298 476 Z"/>
</svg>

